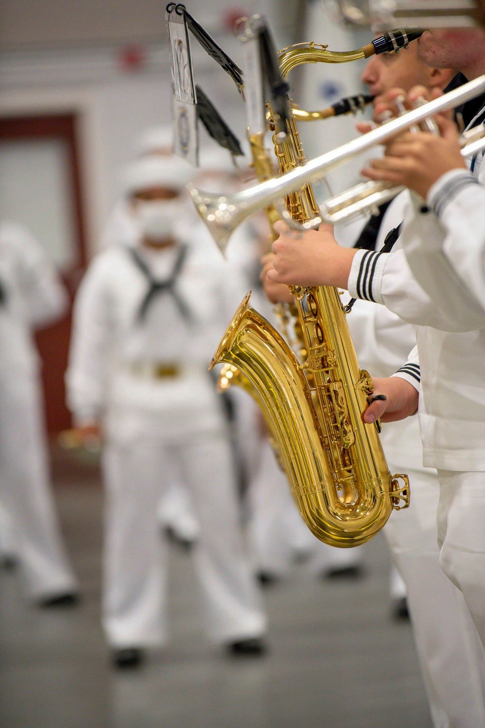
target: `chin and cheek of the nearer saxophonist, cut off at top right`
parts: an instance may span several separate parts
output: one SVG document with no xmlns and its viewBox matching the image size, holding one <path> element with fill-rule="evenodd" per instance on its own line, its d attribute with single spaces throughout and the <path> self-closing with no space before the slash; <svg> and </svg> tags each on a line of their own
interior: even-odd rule
<svg viewBox="0 0 485 728">
<path fill-rule="evenodd" d="M 485 32 L 479 28 L 434 28 L 417 41 L 419 58 L 434 68 L 468 68 L 484 48 Z"/>
</svg>

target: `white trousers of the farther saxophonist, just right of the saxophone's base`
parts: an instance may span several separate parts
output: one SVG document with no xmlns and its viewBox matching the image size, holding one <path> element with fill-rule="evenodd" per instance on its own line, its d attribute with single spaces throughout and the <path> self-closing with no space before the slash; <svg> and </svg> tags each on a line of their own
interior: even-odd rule
<svg viewBox="0 0 485 728">
<path fill-rule="evenodd" d="M 431 469 L 408 474 L 411 505 L 390 516 L 384 533 L 406 582 L 433 724 L 436 728 L 483 728 L 484 650 L 462 593 L 439 565 L 438 477 Z"/>
</svg>

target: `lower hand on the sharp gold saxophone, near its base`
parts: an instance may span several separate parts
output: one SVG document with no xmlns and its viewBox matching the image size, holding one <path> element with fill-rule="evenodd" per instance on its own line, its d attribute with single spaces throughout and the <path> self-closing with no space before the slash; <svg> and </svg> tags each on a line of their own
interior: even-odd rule
<svg viewBox="0 0 485 728">
<path fill-rule="evenodd" d="M 366 424 L 372 424 L 376 419 L 382 422 L 397 422 L 417 412 L 419 401 L 417 389 L 400 376 L 374 379 L 374 392 L 370 395 L 369 401 L 376 395 L 383 395 L 385 400 L 375 400 L 369 404 L 362 413 L 362 421 Z"/>
</svg>

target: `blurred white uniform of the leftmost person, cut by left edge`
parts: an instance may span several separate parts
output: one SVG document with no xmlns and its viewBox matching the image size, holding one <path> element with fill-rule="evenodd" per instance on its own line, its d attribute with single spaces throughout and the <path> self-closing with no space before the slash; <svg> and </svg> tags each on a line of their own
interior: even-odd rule
<svg viewBox="0 0 485 728">
<path fill-rule="evenodd" d="M 0 221 L 0 500 L 27 596 L 75 593 L 49 484 L 34 328 L 65 311 L 55 269 L 25 228 Z"/>
</svg>

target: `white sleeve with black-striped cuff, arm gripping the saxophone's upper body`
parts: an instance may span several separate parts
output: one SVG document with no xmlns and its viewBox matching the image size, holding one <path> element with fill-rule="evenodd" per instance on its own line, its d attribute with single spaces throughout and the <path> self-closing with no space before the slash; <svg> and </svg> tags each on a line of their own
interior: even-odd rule
<svg viewBox="0 0 485 728">
<path fill-rule="evenodd" d="M 482 327 L 485 325 L 483 317 L 475 320 L 470 317 L 468 306 L 454 306 L 448 301 L 446 310 L 439 308 L 417 282 L 404 250 L 396 253 L 358 250 L 353 258 L 348 290 L 354 298 L 386 306 L 408 323 L 441 331 L 474 331 L 478 320 Z"/>
</svg>

